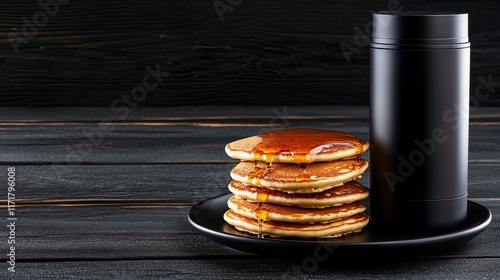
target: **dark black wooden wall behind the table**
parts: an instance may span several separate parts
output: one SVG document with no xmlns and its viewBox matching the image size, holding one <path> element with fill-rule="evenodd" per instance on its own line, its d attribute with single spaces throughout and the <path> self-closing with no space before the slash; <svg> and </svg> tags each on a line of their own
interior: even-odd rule
<svg viewBox="0 0 500 280">
<path fill-rule="evenodd" d="M 468 12 L 471 95 L 489 79 L 500 105 L 499 1 L 55 1 L 0 2 L 0 106 L 366 105 L 365 27 L 391 8 Z"/>
</svg>

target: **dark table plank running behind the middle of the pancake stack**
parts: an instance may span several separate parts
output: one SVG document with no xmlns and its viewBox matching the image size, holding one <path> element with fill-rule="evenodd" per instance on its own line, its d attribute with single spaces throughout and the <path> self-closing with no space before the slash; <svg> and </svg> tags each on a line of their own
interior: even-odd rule
<svg viewBox="0 0 500 280">
<path fill-rule="evenodd" d="M 25 204 L 192 205 L 227 193 L 235 165 L 15 166 L 16 197 Z M 0 171 L 7 167 L 1 165 Z M 499 173 L 500 164 L 471 164 L 469 197 L 500 198 Z M 368 168 L 359 182 L 369 186 L 369 177 Z"/>
</svg>

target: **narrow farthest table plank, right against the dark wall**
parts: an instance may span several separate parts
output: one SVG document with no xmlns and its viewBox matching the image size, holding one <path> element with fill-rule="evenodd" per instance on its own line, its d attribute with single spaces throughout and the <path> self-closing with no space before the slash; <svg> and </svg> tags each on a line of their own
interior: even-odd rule
<svg viewBox="0 0 500 280">
<path fill-rule="evenodd" d="M 481 105 L 479 103 L 478 105 Z M 470 119 L 488 120 L 500 116 L 499 107 L 488 107 L 474 105 L 470 107 Z M 246 118 L 284 118 L 289 121 L 301 118 L 318 119 L 325 117 L 339 119 L 365 119 L 368 120 L 369 107 L 362 105 L 336 106 L 336 105 L 314 105 L 297 106 L 287 103 L 278 105 L 263 104 L 258 107 L 248 105 L 234 106 L 165 106 L 165 107 L 134 107 L 129 111 L 116 111 L 109 106 L 101 107 L 22 107 L 2 106 L 0 107 L 0 122 L 5 121 L 32 121 L 32 122 L 64 122 L 64 121 L 87 121 L 100 122 L 103 119 L 112 121 L 155 121 L 155 120 L 200 120 L 217 118 L 241 119 Z M 225 118 L 224 118 L 225 117 Z"/>
</svg>

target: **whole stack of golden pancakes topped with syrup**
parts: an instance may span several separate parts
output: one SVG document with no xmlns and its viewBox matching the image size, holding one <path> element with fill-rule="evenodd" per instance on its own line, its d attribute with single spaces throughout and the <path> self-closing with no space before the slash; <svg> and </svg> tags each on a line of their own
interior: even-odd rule
<svg viewBox="0 0 500 280">
<path fill-rule="evenodd" d="M 259 237 L 328 238 L 368 224 L 356 179 L 368 168 L 368 142 L 340 131 L 296 128 L 226 145 L 231 171 L 224 220 Z"/>
</svg>

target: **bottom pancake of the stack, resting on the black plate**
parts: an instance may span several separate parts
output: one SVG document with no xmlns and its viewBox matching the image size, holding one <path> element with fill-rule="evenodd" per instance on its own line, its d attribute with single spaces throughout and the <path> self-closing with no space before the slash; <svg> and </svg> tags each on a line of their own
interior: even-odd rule
<svg viewBox="0 0 500 280">
<path fill-rule="evenodd" d="M 239 231 L 257 236 L 296 237 L 296 238 L 336 238 L 360 232 L 368 224 L 365 213 L 359 213 L 343 220 L 329 223 L 300 224 L 276 221 L 257 221 L 228 210 L 224 220 Z"/>
</svg>

